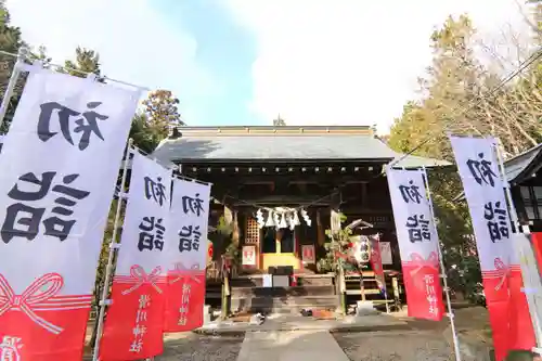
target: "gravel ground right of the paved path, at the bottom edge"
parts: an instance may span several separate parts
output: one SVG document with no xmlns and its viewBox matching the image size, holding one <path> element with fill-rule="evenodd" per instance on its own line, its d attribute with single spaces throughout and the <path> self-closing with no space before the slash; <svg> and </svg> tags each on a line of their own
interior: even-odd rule
<svg viewBox="0 0 542 361">
<path fill-rule="evenodd" d="M 452 349 L 442 334 L 397 331 L 334 334 L 351 361 L 452 361 Z"/>
</svg>

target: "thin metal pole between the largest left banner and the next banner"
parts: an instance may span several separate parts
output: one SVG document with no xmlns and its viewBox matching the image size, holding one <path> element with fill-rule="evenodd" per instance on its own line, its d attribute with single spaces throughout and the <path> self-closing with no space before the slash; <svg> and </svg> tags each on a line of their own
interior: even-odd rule
<svg viewBox="0 0 542 361">
<path fill-rule="evenodd" d="M 98 331 L 96 331 L 96 340 L 94 345 L 94 353 L 92 357 L 93 361 L 98 361 L 98 354 L 100 352 L 100 340 L 102 339 L 102 333 L 103 333 L 103 326 L 104 326 L 104 317 L 105 317 L 105 307 L 107 296 L 109 295 L 109 282 L 111 278 L 113 275 L 113 258 L 115 256 L 115 249 L 118 248 L 118 244 L 116 243 L 117 240 L 117 234 L 118 234 L 118 229 L 119 229 L 119 222 L 120 222 L 120 209 L 122 208 L 122 198 L 124 198 L 124 192 L 125 192 L 125 184 L 126 184 L 126 176 L 127 176 L 127 169 L 128 169 L 128 162 L 130 160 L 130 153 L 132 149 L 132 143 L 133 140 L 130 139 L 128 140 L 128 145 L 126 147 L 126 154 L 125 154 L 125 160 L 122 165 L 122 176 L 120 180 L 120 192 L 118 192 L 118 202 L 117 202 L 117 209 L 115 212 L 115 223 L 113 225 L 113 235 L 109 244 L 109 254 L 107 257 L 107 268 L 105 269 L 105 279 L 104 279 L 104 285 L 103 285 L 103 291 L 102 291 L 102 298 L 100 299 L 100 314 L 98 317 Z"/>
</svg>

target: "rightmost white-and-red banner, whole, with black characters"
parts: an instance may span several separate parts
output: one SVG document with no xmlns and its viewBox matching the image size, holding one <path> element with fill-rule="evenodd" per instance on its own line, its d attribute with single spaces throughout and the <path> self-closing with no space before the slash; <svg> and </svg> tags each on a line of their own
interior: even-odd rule
<svg viewBox="0 0 542 361">
<path fill-rule="evenodd" d="M 496 140 L 468 137 L 450 140 L 473 219 L 495 359 L 502 361 L 512 349 L 530 350 L 534 346 L 516 257 L 521 240 L 515 237 L 525 235 L 512 232 L 503 191 L 507 184 L 501 177 Z"/>
</svg>

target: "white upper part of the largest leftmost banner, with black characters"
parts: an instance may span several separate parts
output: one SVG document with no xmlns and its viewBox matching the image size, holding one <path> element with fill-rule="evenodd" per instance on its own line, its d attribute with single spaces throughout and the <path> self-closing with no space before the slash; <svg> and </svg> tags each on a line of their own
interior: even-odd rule
<svg viewBox="0 0 542 361">
<path fill-rule="evenodd" d="M 0 274 L 16 295 L 41 275 L 90 295 L 140 92 L 28 75 L 0 157 Z"/>
</svg>

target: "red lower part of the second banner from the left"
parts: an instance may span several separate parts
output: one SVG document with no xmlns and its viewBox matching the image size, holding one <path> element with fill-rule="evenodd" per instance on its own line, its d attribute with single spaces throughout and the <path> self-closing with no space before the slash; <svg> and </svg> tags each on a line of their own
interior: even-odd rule
<svg viewBox="0 0 542 361">
<path fill-rule="evenodd" d="M 130 276 L 118 275 L 113 282 L 101 361 L 141 360 L 163 352 L 166 280 L 159 268 L 150 274 L 139 266 L 132 270 Z"/>
</svg>

